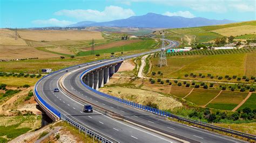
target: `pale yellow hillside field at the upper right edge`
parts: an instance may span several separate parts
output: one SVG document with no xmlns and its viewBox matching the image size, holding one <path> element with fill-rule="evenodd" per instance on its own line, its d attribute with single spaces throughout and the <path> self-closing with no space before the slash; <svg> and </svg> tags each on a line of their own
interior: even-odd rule
<svg viewBox="0 0 256 143">
<path fill-rule="evenodd" d="M 228 28 L 220 28 L 218 30 L 213 30 L 212 32 L 219 33 L 219 34 L 225 35 L 225 36 L 255 34 L 256 26 L 254 26 L 254 25 L 242 25 L 242 26 L 235 26 L 235 27 L 228 27 Z"/>
</svg>

